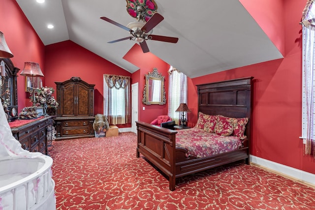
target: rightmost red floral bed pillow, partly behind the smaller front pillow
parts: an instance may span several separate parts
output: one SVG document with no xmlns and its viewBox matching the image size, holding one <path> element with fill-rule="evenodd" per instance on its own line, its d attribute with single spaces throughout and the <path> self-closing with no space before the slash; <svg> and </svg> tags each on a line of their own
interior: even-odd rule
<svg viewBox="0 0 315 210">
<path fill-rule="evenodd" d="M 228 118 L 219 115 L 218 121 L 220 120 L 227 120 L 232 123 L 233 125 L 233 136 L 237 136 L 240 139 L 245 139 L 246 136 L 244 135 L 246 124 L 248 122 L 248 118 Z"/>
</svg>

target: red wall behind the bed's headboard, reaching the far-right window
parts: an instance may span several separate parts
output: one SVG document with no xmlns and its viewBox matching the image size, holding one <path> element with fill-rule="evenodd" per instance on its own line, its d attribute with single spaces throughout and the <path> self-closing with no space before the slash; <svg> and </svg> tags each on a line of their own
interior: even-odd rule
<svg viewBox="0 0 315 210">
<path fill-rule="evenodd" d="M 280 27 L 284 29 L 284 59 L 194 78 L 192 83 L 197 85 L 253 76 L 251 154 L 315 174 L 315 159 L 313 156 L 303 155 L 303 144 L 299 139 L 302 118 L 302 51 L 299 22 L 305 3 L 306 1 L 299 0 L 284 1 L 282 20 L 285 21 L 278 23 L 283 24 Z M 259 23 L 259 20 L 256 21 Z M 197 107 L 194 102 L 197 101 L 197 95 L 195 90 L 191 89 L 192 87 L 189 88 L 189 102 L 194 105 L 190 103 L 190 107 Z"/>
</svg>

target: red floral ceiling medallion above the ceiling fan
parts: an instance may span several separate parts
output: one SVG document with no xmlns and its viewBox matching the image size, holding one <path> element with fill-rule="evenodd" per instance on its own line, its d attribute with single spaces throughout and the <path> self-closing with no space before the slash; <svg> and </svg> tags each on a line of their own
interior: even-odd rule
<svg viewBox="0 0 315 210">
<path fill-rule="evenodd" d="M 147 22 L 158 9 L 157 3 L 154 0 L 126 0 L 126 2 L 128 14 L 138 21 L 143 20 Z M 139 7 L 142 8 L 140 9 L 140 14 L 138 14 Z"/>
</svg>

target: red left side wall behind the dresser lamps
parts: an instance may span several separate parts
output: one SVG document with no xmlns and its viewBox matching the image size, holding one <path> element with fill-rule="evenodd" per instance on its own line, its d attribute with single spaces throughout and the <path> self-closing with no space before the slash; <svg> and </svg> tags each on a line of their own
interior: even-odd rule
<svg viewBox="0 0 315 210">
<path fill-rule="evenodd" d="M 0 8 L 0 31 L 3 32 L 6 43 L 14 55 L 11 58 L 14 66 L 20 68 L 17 78 L 18 111 L 20 112 L 23 107 L 32 103 L 30 94 L 25 92 L 25 77 L 19 75 L 26 61 L 39 63 L 45 75 L 44 45 L 15 0 L 1 0 Z"/>
</svg>

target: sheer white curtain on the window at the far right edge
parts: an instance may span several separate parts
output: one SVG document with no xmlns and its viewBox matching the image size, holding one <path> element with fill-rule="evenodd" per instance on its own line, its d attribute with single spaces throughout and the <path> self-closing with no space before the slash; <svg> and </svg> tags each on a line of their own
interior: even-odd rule
<svg viewBox="0 0 315 210">
<path fill-rule="evenodd" d="M 308 0 L 302 14 L 302 138 L 306 154 L 315 149 L 315 5 Z M 314 150 L 313 149 L 313 150 Z M 313 152 L 315 157 L 315 152 Z"/>
</svg>

